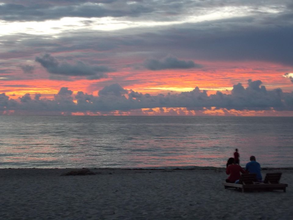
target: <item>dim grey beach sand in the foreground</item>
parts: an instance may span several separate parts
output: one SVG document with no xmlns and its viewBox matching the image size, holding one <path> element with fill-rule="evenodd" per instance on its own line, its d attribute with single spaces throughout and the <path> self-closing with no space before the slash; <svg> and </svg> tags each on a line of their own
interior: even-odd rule
<svg viewBox="0 0 293 220">
<path fill-rule="evenodd" d="M 221 168 L 193 170 L 0 169 L 0 219 L 293 219 L 293 170 L 287 192 L 224 189 Z"/>
</svg>

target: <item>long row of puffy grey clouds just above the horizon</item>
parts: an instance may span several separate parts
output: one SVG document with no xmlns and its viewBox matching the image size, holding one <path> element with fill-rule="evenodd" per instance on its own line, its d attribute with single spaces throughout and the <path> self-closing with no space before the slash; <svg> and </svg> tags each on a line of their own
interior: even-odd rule
<svg viewBox="0 0 293 220">
<path fill-rule="evenodd" d="M 285 93 L 281 89 L 266 90 L 260 80 L 248 80 L 248 87 L 241 83 L 233 86 L 231 94 L 217 92 L 208 95 L 205 90 L 196 87 L 193 91 L 180 94 L 142 94 L 133 90 L 125 90 L 119 84 L 112 84 L 99 91 L 99 96 L 93 96 L 79 91 L 73 94 L 67 87 L 62 87 L 54 100 L 40 99 L 36 94 L 34 99 L 30 94 L 19 97 L 20 102 L 0 94 L 0 111 L 14 110 L 21 112 L 111 112 L 130 111 L 141 108 L 187 108 L 187 110 L 216 109 L 235 110 L 293 110 L 293 93 Z M 128 96 L 125 96 L 125 95 Z M 77 100 L 77 103 L 74 102 Z"/>
</svg>

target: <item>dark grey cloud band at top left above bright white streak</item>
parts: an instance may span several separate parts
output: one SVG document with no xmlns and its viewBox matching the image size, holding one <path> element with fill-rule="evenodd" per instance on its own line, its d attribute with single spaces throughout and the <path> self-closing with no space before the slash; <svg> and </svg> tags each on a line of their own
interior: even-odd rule
<svg viewBox="0 0 293 220">
<path fill-rule="evenodd" d="M 112 3 L 107 1 L 104 3 Z M 67 2 L 67 4 L 58 4 L 59 2 L 47 4 L 18 4 L 6 3 L 0 5 L 0 19 L 6 21 L 41 21 L 60 19 L 62 17 L 137 17 L 144 13 L 150 13 L 154 10 L 148 4 L 119 4 L 105 5 L 96 4 L 96 1 Z M 99 2 L 101 3 L 101 2 Z M 120 7 L 118 7 L 120 6 Z"/>
</svg>

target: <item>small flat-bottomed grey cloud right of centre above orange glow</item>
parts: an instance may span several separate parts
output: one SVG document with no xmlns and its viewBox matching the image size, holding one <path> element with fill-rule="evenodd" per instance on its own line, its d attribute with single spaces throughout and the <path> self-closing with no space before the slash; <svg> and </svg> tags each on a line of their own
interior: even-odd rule
<svg viewBox="0 0 293 220">
<path fill-rule="evenodd" d="M 178 60 L 176 57 L 166 57 L 164 60 L 148 59 L 144 66 L 149 70 L 164 70 L 164 69 L 189 69 L 200 68 L 200 64 L 195 64 L 193 61 Z"/>
</svg>

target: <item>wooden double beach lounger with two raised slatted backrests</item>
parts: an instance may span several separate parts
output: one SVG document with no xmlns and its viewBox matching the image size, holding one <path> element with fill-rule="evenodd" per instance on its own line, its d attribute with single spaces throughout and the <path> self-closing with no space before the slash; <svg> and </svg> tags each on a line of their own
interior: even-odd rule
<svg viewBox="0 0 293 220">
<path fill-rule="evenodd" d="M 265 180 L 263 183 L 254 182 L 256 174 L 242 174 L 239 180 L 239 183 L 226 183 L 223 182 L 225 189 L 233 187 L 241 189 L 244 193 L 245 189 L 248 190 L 278 190 L 281 189 L 286 192 L 286 187 L 288 184 L 279 183 L 282 173 L 269 173 L 266 174 Z"/>
</svg>

